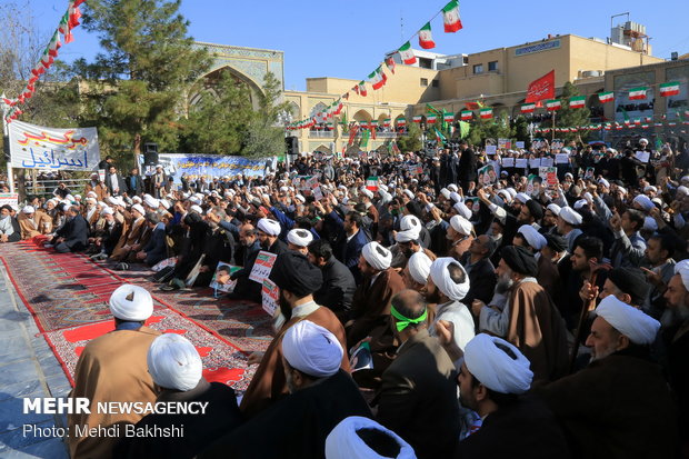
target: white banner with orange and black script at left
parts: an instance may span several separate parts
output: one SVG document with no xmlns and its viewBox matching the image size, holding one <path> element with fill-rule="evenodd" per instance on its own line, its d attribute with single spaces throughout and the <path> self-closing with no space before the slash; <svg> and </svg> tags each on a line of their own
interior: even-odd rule
<svg viewBox="0 0 689 459">
<path fill-rule="evenodd" d="M 91 171 L 100 162 L 96 128 L 53 129 L 12 121 L 13 168 Z"/>
</svg>

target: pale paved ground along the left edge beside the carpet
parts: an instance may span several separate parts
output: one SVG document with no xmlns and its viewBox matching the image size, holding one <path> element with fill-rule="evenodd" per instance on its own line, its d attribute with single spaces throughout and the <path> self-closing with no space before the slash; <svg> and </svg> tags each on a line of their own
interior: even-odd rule
<svg viewBox="0 0 689 459">
<path fill-rule="evenodd" d="M 0 458 L 69 458 L 61 438 L 37 437 L 67 426 L 63 416 L 24 415 L 23 398 L 64 397 L 69 382 L 0 263 Z M 28 430 L 31 429 L 31 430 Z M 24 432 L 27 430 L 27 432 Z"/>
</svg>

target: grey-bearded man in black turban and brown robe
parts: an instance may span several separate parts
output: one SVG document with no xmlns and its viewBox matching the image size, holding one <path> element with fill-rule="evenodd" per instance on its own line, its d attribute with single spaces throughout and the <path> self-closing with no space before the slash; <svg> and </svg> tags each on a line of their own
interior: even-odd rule
<svg viewBox="0 0 689 459">
<path fill-rule="evenodd" d="M 567 371 L 565 321 L 536 280 L 533 256 L 516 246 L 505 247 L 500 255 L 496 290 L 507 288 L 507 302 L 500 309 L 475 300 L 472 311 L 479 318 L 479 329 L 505 338 L 527 356 L 535 383 L 553 381 Z"/>
</svg>

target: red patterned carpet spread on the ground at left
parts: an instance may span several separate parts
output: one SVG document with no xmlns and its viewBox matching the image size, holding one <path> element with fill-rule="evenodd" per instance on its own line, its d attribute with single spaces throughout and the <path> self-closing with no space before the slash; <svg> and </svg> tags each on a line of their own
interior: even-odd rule
<svg viewBox="0 0 689 459">
<path fill-rule="evenodd" d="M 244 390 L 256 370 L 247 368 L 247 356 L 266 350 L 272 339 L 270 318 L 260 305 L 216 299 L 209 288 L 161 291 L 148 268 L 113 271 L 83 255 L 60 255 L 32 242 L 0 246 L 0 260 L 70 381 L 86 343 L 112 330 L 108 299 L 127 282 L 151 292 L 150 327 L 189 338 L 211 381 Z"/>
</svg>

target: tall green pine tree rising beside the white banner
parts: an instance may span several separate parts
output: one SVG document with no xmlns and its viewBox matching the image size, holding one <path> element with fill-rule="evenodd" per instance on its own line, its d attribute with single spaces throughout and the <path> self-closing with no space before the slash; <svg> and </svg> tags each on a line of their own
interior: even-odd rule
<svg viewBox="0 0 689 459">
<path fill-rule="evenodd" d="M 180 0 L 91 0 L 83 16 L 103 52 L 74 62 L 88 80 L 84 121 L 99 128 L 108 152 L 118 156 L 152 141 L 176 151 L 188 88 L 210 66 L 206 50 L 187 34 Z M 120 158 L 121 159 L 121 158 Z"/>
</svg>

